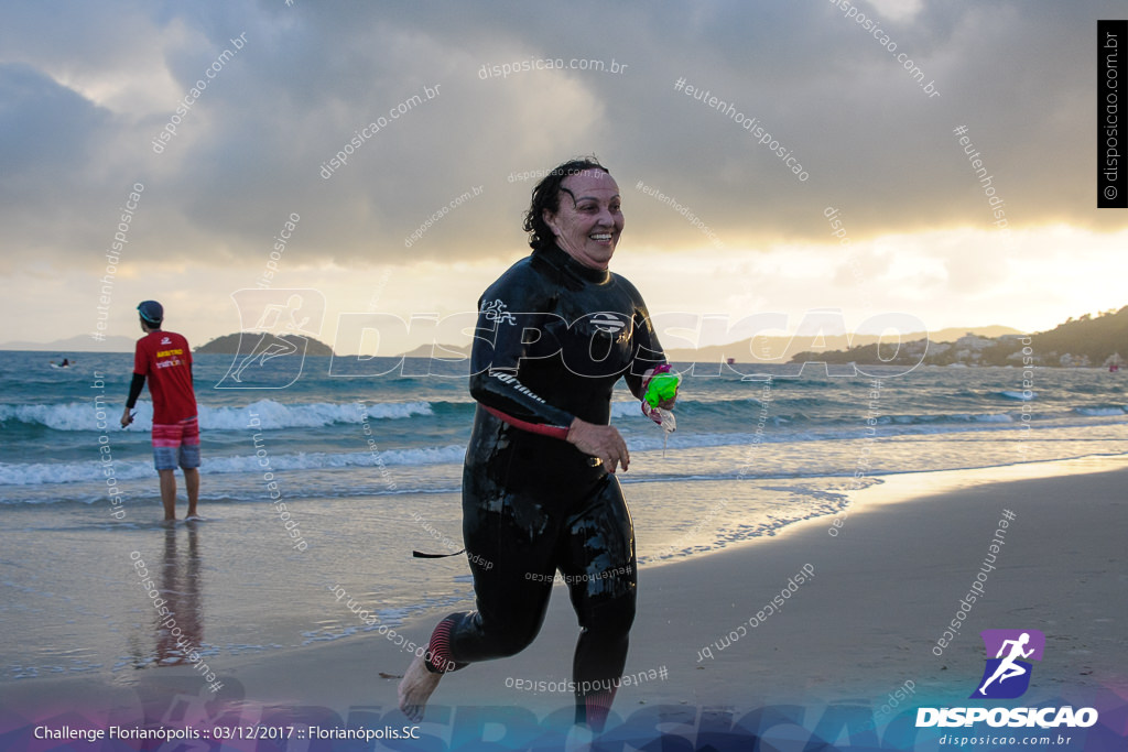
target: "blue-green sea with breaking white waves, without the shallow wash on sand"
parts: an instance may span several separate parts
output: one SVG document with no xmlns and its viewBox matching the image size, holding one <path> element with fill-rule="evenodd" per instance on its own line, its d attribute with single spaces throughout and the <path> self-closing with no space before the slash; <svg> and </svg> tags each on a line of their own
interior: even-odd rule
<svg viewBox="0 0 1128 752">
<path fill-rule="evenodd" d="M 397 364 L 373 360 L 364 371 Z M 308 357 L 287 388 L 219 389 L 232 356 L 197 356 L 202 498 L 262 502 L 266 465 L 296 498 L 415 495 L 411 503 L 425 505 L 428 495 L 457 490 L 474 414 L 465 369 L 400 375 L 428 370 L 415 360 L 423 365 L 349 378 L 329 375 L 328 357 Z M 129 504 L 157 501 L 148 392 L 134 424 L 117 426 L 132 357 L 82 354 L 65 370 L 46 363 L 41 353 L 0 352 L 0 505 L 106 503 L 107 453 Z M 684 377 L 664 457 L 661 430 L 620 382 L 613 421 L 634 458 L 623 481 L 848 477 L 863 445 L 866 475 L 879 476 L 1125 451 L 1128 373 L 1037 369 L 1028 391 L 1020 369 L 918 368 L 881 379 L 873 399 L 872 379 L 819 369 L 769 381 L 695 369 L 712 375 Z"/>
</svg>

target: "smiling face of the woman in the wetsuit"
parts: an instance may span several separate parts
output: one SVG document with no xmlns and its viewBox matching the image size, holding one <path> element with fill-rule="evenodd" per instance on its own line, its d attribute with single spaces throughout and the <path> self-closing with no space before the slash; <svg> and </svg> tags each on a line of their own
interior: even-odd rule
<svg viewBox="0 0 1128 752">
<path fill-rule="evenodd" d="M 619 186 L 602 170 L 570 175 L 561 184 L 559 209 L 544 220 L 564 253 L 591 268 L 606 269 L 623 232 Z"/>
</svg>

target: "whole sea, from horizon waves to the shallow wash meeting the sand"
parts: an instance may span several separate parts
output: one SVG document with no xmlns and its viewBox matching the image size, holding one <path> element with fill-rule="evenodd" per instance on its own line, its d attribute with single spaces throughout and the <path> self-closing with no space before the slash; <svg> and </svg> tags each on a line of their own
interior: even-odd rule
<svg viewBox="0 0 1128 752">
<path fill-rule="evenodd" d="M 139 586 L 138 559 L 220 666 L 374 630 L 360 609 L 395 626 L 472 605 L 465 558 L 411 556 L 460 547 L 474 413 L 465 366 L 413 375 L 428 363 L 354 360 L 331 374 L 329 359 L 308 357 L 285 388 L 226 389 L 217 384 L 230 383 L 232 356 L 197 356 L 208 521 L 166 530 L 147 393 L 136 422 L 117 426 L 132 356 L 79 354 L 65 370 L 49 360 L 0 352 L 0 680 L 130 681 L 183 662 Z M 1128 373 L 1036 369 L 1024 389 L 1022 371 L 1006 368 L 879 380 L 818 365 L 799 377 L 766 366 L 777 375 L 759 380 L 719 370 L 684 374 L 664 448 L 625 386 L 616 396 L 642 568 L 834 514 L 848 489 L 888 474 L 1128 451 Z M 117 516 L 107 483 L 124 498 Z"/>
</svg>

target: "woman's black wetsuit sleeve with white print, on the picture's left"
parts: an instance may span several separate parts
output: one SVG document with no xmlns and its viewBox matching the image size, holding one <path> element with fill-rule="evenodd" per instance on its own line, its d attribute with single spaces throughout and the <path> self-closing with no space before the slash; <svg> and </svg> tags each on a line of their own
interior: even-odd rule
<svg viewBox="0 0 1128 752">
<path fill-rule="evenodd" d="M 547 316 L 536 272 L 514 267 L 478 301 L 470 350 L 470 396 L 512 426 L 567 439 L 573 415 L 549 405 L 517 378 L 521 359 L 537 342 Z"/>
</svg>

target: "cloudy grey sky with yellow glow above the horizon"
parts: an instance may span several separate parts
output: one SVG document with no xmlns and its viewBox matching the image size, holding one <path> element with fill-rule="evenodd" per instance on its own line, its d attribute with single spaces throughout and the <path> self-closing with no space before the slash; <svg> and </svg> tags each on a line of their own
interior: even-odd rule
<svg viewBox="0 0 1128 752">
<path fill-rule="evenodd" d="M 236 331 L 283 231 L 270 294 L 318 291 L 326 342 L 343 313 L 470 311 L 528 253 L 527 174 L 584 153 L 652 313 L 1039 330 L 1128 303 L 1128 213 L 1094 177 L 1122 2 L 843 5 L 9 3 L 0 342 L 134 337 L 147 298 L 193 344 Z"/>
</svg>

